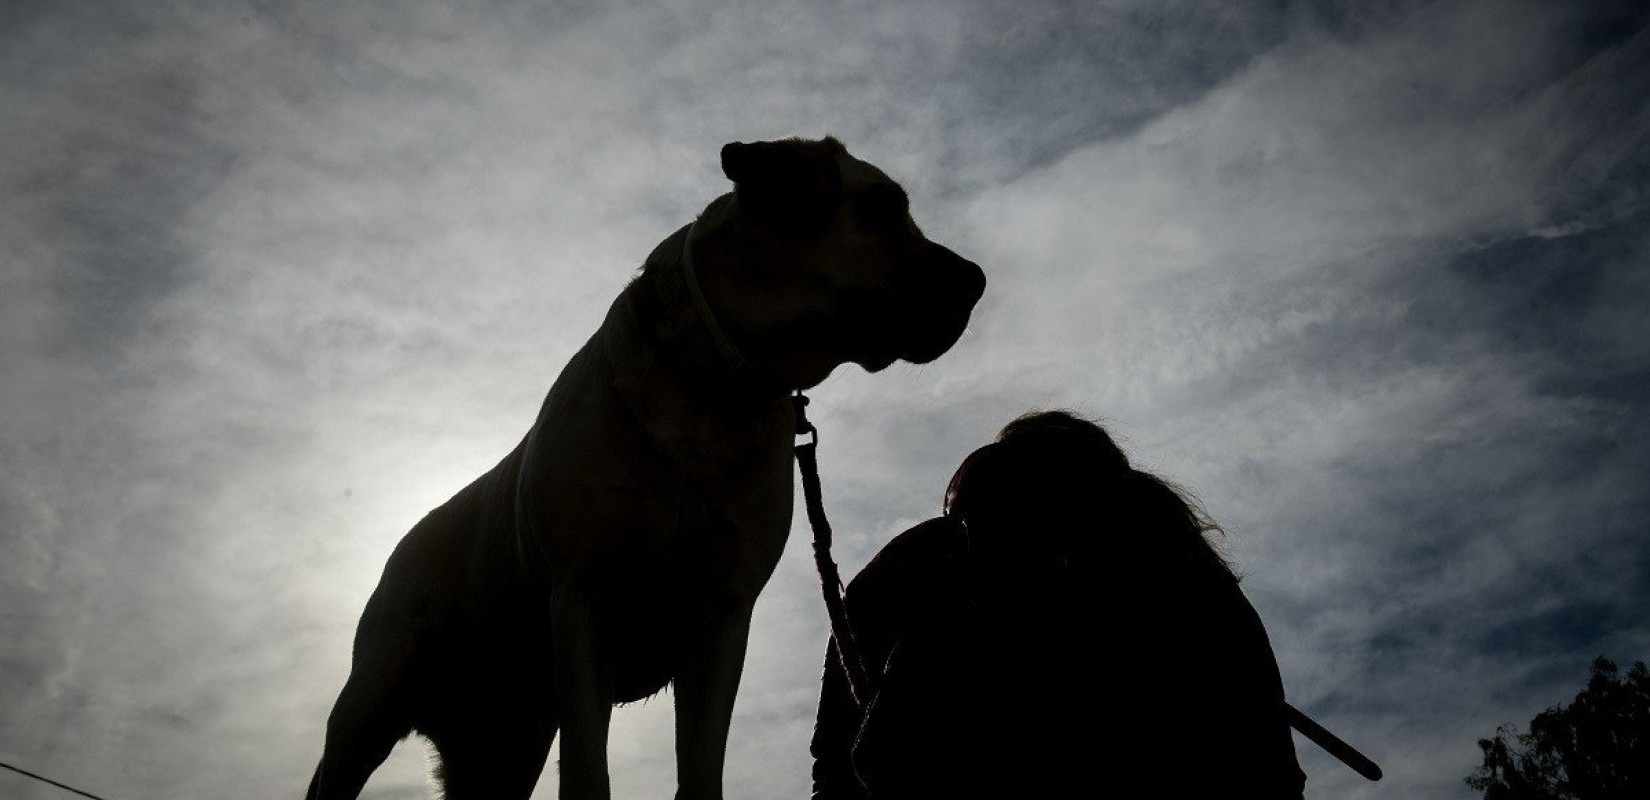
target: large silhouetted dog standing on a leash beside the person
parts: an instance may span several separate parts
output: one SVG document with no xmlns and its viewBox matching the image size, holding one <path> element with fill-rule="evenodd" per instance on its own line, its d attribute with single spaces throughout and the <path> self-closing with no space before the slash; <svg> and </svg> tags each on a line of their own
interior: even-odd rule
<svg viewBox="0 0 1650 800">
<path fill-rule="evenodd" d="M 790 529 L 789 394 L 949 350 L 985 290 L 835 139 L 729 144 L 734 191 L 668 236 L 497 467 L 391 553 L 309 800 L 396 741 L 449 800 L 606 798 L 615 703 L 675 685 L 676 797 L 719 798 L 751 609 Z"/>
</svg>

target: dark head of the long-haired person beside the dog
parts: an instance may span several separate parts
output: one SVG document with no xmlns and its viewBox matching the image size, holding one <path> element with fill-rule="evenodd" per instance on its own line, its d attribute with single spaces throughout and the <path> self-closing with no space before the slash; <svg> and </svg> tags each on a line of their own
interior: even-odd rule
<svg viewBox="0 0 1650 800">
<path fill-rule="evenodd" d="M 1097 553 L 1228 569 L 1204 539 L 1214 525 L 1176 487 L 1135 470 L 1117 442 L 1069 411 L 1008 422 L 970 454 L 945 492 L 975 561 L 988 567 L 1068 564 Z"/>
</svg>

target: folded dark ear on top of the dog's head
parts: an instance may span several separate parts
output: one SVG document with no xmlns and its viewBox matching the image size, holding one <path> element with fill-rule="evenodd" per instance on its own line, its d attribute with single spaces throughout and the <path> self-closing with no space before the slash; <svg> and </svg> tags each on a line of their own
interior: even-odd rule
<svg viewBox="0 0 1650 800">
<path fill-rule="evenodd" d="M 742 209 L 766 224 L 807 231 L 830 221 L 842 201 L 840 152 L 835 139 L 729 142 L 721 162 Z"/>
</svg>

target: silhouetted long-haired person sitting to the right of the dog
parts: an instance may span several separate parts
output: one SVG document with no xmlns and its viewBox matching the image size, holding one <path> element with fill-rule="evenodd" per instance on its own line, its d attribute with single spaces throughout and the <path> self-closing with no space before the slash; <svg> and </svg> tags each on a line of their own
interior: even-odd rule
<svg viewBox="0 0 1650 800">
<path fill-rule="evenodd" d="M 827 650 L 812 797 L 1300 798 L 1214 529 L 1101 426 L 1015 419 L 848 584 L 868 686 Z"/>
</svg>

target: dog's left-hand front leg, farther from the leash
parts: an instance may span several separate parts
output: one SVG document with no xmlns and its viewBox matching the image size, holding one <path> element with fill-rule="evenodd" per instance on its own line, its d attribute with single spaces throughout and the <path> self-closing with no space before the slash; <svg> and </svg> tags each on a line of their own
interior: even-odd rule
<svg viewBox="0 0 1650 800">
<path fill-rule="evenodd" d="M 596 637 L 596 592 L 561 581 L 551 591 L 556 716 L 561 727 L 561 800 L 607 800 L 607 724 L 612 675 Z"/>
</svg>

